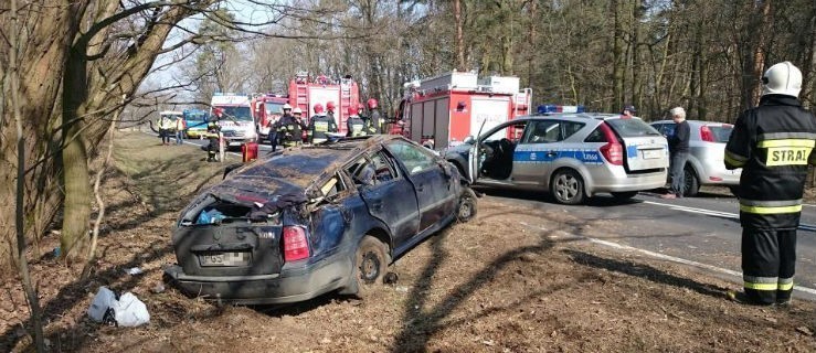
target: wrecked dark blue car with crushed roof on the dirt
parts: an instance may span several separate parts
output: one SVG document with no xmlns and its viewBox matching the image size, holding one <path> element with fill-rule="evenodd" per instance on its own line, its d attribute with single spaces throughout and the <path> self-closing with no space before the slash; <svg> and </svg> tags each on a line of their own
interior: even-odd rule
<svg viewBox="0 0 816 353">
<path fill-rule="evenodd" d="M 475 214 L 458 170 L 402 137 L 292 149 L 187 206 L 165 272 L 188 296 L 235 303 L 363 296 L 393 258 Z"/>
</svg>

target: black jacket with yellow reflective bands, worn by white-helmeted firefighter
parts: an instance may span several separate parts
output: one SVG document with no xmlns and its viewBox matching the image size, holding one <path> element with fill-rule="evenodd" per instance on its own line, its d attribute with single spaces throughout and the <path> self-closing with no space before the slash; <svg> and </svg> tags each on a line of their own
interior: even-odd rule
<svg viewBox="0 0 816 353">
<path fill-rule="evenodd" d="M 816 118 L 795 97 L 763 96 L 757 107 L 736 119 L 724 162 L 729 169 L 742 168 L 742 226 L 798 226 L 807 164 L 816 164 L 814 147 Z"/>
</svg>

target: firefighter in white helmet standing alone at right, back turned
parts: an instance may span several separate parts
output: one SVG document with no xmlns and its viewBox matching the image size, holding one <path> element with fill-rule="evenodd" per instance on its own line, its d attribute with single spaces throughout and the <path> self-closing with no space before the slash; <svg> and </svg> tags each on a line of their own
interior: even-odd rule
<svg viewBox="0 0 816 353">
<path fill-rule="evenodd" d="M 728 169 L 742 168 L 736 196 L 743 299 L 785 306 L 793 291 L 807 164 L 816 164 L 816 118 L 797 99 L 802 72 L 789 62 L 771 66 L 762 83 L 760 105 L 736 119 L 724 160 Z"/>
</svg>

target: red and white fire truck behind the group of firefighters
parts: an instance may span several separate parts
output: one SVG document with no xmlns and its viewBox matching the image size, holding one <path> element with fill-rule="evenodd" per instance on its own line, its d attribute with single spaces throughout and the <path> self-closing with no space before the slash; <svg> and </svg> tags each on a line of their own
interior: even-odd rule
<svg viewBox="0 0 816 353">
<path fill-rule="evenodd" d="M 351 76 L 335 81 L 324 75 L 311 77 L 308 73 L 300 72 L 289 82 L 289 104 L 304 111 L 306 121 L 309 121 L 316 104 L 327 107 L 329 101 L 336 107 L 337 127 L 345 133 L 349 107 L 360 101 L 360 88 Z"/>
</svg>

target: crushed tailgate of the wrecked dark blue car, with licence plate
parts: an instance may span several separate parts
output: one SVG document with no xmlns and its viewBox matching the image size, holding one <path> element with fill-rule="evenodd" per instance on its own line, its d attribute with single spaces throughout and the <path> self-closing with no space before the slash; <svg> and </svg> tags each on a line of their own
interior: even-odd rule
<svg viewBox="0 0 816 353">
<path fill-rule="evenodd" d="M 282 256 L 283 214 L 306 201 L 303 189 L 279 180 L 235 180 L 210 191 L 182 212 L 172 235 L 187 276 L 275 275 Z"/>
</svg>

